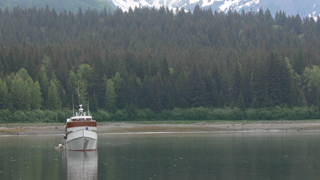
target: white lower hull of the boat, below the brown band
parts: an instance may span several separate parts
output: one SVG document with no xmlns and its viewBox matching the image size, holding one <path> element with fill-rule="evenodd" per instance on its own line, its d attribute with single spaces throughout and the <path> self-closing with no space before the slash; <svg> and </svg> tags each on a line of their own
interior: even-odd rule
<svg viewBox="0 0 320 180">
<path fill-rule="evenodd" d="M 84 128 L 69 132 L 65 140 L 67 150 L 89 151 L 97 149 L 97 132 Z"/>
</svg>

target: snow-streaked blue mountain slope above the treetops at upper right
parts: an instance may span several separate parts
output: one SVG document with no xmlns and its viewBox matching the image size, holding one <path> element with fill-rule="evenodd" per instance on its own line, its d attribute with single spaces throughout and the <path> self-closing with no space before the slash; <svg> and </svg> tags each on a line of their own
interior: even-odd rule
<svg viewBox="0 0 320 180">
<path fill-rule="evenodd" d="M 129 7 L 168 7 L 169 9 L 181 8 L 193 11 L 198 4 L 201 8 L 224 11 L 228 9 L 232 11 L 253 10 L 258 11 L 260 7 L 263 10 L 267 8 L 274 16 L 276 11 L 282 10 L 287 15 L 296 15 L 301 17 L 313 16 L 320 14 L 319 0 L 112 0 L 115 6 L 123 11 L 127 11 Z"/>
</svg>

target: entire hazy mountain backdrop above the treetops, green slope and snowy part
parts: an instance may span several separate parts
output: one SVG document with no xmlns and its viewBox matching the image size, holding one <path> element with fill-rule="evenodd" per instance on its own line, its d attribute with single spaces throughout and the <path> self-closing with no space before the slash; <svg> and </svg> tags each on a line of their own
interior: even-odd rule
<svg viewBox="0 0 320 180">
<path fill-rule="evenodd" d="M 49 9 L 54 7 L 55 11 L 77 12 L 78 8 L 102 10 L 106 7 L 109 11 L 114 11 L 116 8 L 121 8 L 127 11 L 129 7 L 132 9 L 136 7 L 168 7 L 169 9 L 176 9 L 183 7 L 185 10 L 193 11 L 195 5 L 200 8 L 212 11 L 224 11 L 228 9 L 232 11 L 247 12 L 249 10 L 258 11 L 259 8 L 269 9 L 271 15 L 274 17 L 275 12 L 282 10 L 286 15 L 318 16 L 320 14 L 319 0 L 1 0 L 0 8 L 11 10 L 13 7 L 19 5 L 24 7 L 45 7 L 48 5 Z"/>
</svg>

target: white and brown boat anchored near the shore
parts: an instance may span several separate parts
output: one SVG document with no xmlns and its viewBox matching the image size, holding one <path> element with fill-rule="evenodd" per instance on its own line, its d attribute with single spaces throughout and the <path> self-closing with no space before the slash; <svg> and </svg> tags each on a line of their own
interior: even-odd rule
<svg viewBox="0 0 320 180">
<path fill-rule="evenodd" d="M 92 116 L 85 114 L 82 104 L 74 116 L 66 119 L 65 136 L 62 148 L 67 150 L 89 151 L 97 149 L 96 121 Z"/>
</svg>

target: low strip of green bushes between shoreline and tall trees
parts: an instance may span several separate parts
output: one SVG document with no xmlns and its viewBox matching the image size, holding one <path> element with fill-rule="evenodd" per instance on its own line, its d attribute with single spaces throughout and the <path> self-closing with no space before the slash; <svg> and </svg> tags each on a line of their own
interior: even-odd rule
<svg viewBox="0 0 320 180">
<path fill-rule="evenodd" d="M 65 122 L 72 110 L 14 110 L 1 109 L 0 122 Z M 132 113 L 127 109 L 118 109 L 114 113 L 97 110 L 91 114 L 98 122 L 103 121 L 133 121 L 133 120 L 300 120 L 317 119 L 320 109 L 316 106 L 248 108 L 174 108 L 155 113 L 150 109 L 136 109 Z"/>
</svg>

